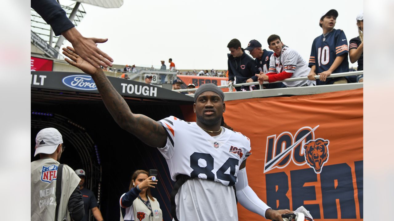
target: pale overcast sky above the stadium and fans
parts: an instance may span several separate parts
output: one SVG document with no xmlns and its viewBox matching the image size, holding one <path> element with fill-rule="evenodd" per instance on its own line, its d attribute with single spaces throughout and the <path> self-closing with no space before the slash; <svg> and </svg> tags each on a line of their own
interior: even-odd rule
<svg viewBox="0 0 394 221">
<path fill-rule="evenodd" d="M 308 61 L 313 39 L 322 34 L 319 19 L 329 9 L 338 11 L 335 28 L 343 29 L 349 42 L 358 35 L 356 16 L 363 10 L 363 2 L 124 0 L 117 9 L 83 7 L 86 15 L 77 29 L 85 37 L 108 38 L 99 47 L 115 64 L 158 68 L 164 60 L 168 68 L 171 57 L 178 69 L 227 70 L 226 46 L 233 38 L 243 48 L 256 39 L 269 50 L 266 40 L 277 34 Z"/>
</svg>

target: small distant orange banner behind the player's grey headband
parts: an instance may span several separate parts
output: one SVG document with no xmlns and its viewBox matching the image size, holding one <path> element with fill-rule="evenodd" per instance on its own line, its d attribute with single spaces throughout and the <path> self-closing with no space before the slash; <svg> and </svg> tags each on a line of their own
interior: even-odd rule
<svg viewBox="0 0 394 221">
<path fill-rule="evenodd" d="M 182 85 L 182 89 L 186 89 L 189 84 L 194 84 L 198 88 L 202 84 L 213 83 L 217 86 L 227 85 L 229 79 L 227 77 L 208 77 L 208 76 L 194 76 L 194 75 L 180 75 L 177 77 L 181 79 L 185 84 Z M 229 88 L 222 88 L 223 92 L 229 92 Z M 235 89 L 233 89 L 235 91 Z"/>
</svg>

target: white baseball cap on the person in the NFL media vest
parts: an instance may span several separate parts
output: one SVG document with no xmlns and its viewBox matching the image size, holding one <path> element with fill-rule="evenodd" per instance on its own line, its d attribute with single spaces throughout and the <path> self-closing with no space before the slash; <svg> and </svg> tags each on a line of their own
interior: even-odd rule
<svg viewBox="0 0 394 221">
<path fill-rule="evenodd" d="M 63 138 L 57 129 L 53 127 L 42 129 L 35 137 L 34 157 L 39 153 L 54 153 L 59 144 L 63 144 Z"/>
</svg>

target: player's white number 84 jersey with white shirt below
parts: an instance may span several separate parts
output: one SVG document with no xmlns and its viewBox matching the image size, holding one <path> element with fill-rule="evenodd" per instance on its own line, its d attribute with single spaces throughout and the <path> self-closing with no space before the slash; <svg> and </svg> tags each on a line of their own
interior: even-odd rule
<svg viewBox="0 0 394 221">
<path fill-rule="evenodd" d="M 175 197 L 179 220 L 238 220 L 233 185 L 241 163 L 251 154 L 250 140 L 222 127 L 210 136 L 195 122 L 170 116 L 159 121 L 167 131 L 167 144 L 158 148 L 167 160 L 171 179 L 187 180 Z"/>
</svg>

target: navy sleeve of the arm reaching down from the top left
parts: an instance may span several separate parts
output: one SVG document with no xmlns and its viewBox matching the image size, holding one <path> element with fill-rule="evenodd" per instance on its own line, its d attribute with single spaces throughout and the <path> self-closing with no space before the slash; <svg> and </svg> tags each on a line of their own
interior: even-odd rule
<svg viewBox="0 0 394 221">
<path fill-rule="evenodd" d="M 48 23 L 56 36 L 74 27 L 56 0 L 31 0 L 31 7 Z"/>
</svg>

